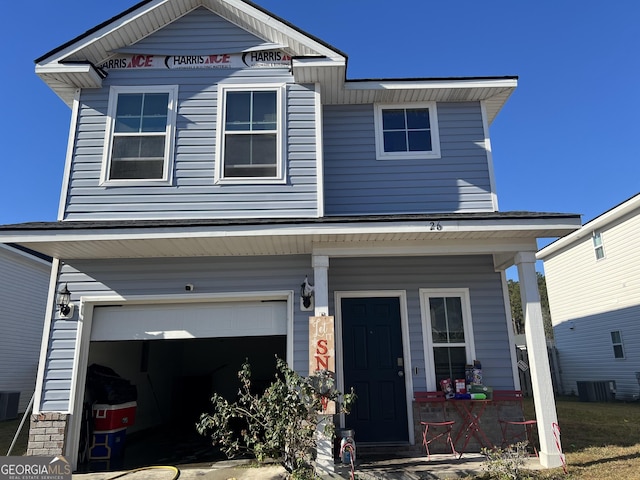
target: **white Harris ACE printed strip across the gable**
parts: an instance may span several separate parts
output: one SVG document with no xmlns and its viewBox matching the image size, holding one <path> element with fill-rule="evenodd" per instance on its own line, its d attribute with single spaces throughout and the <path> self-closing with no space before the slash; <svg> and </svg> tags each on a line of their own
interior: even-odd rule
<svg viewBox="0 0 640 480">
<path fill-rule="evenodd" d="M 146 55 L 123 54 L 110 58 L 100 68 L 105 70 L 148 70 L 184 68 L 283 68 L 291 57 L 280 50 L 213 55 Z"/>
</svg>

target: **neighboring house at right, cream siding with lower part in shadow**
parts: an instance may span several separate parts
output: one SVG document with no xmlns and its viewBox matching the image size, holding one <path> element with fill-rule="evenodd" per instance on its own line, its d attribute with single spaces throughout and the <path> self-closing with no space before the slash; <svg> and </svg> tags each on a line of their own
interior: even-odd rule
<svg viewBox="0 0 640 480">
<path fill-rule="evenodd" d="M 640 194 L 538 252 L 544 261 L 562 390 L 637 400 L 640 392 Z M 580 382 L 604 382 L 590 385 Z M 606 399 L 586 393 L 587 399 Z"/>
</svg>

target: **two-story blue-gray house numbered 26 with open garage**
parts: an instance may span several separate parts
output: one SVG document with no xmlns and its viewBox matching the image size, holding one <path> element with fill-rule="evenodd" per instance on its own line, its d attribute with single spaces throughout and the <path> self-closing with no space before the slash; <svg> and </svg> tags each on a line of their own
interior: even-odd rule
<svg viewBox="0 0 640 480">
<path fill-rule="evenodd" d="M 580 217 L 498 210 L 489 125 L 517 78 L 346 80 L 346 64 L 241 0 L 143 1 L 36 60 L 72 109 L 59 221 L 0 239 L 55 257 L 74 304 L 45 329 L 31 431 L 67 432 L 46 452 L 77 465 L 91 363 L 137 385 L 141 430 L 233 389 L 245 357 L 259 381 L 274 354 L 308 373 L 313 315 L 335 317 L 338 383 L 358 394 L 340 425 L 419 444 L 414 391 L 475 359 L 486 385 L 519 386 L 515 264 L 540 458 L 561 465 L 535 252 Z"/>
</svg>

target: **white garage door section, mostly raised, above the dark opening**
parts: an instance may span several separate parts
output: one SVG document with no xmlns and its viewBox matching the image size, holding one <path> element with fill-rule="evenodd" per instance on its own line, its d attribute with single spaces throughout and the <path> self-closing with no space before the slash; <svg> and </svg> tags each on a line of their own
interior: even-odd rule
<svg viewBox="0 0 640 480">
<path fill-rule="evenodd" d="M 287 302 L 97 306 L 91 341 L 255 337 L 287 334 Z"/>
</svg>

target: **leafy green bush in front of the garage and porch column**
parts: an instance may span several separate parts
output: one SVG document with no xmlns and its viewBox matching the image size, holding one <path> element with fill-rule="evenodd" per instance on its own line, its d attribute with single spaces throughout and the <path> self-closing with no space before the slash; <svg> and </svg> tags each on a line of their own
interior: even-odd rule
<svg viewBox="0 0 640 480">
<path fill-rule="evenodd" d="M 331 372 L 320 371 L 303 377 L 276 358 L 275 380 L 262 394 L 251 391 L 251 367 L 245 362 L 238 372 L 238 399 L 229 402 L 214 394 L 213 413 L 203 413 L 196 425 L 199 433 L 210 435 L 214 445 L 233 458 L 251 454 L 259 462 L 280 459 L 289 472 L 309 471 L 316 448 L 316 426 L 322 399 L 337 401 Z M 342 396 L 342 411 L 349 413 L 355 401 L 353 391 Z M 333 439 L 334 424 L 326 422 L 324 434 Z"/>
</svg>

